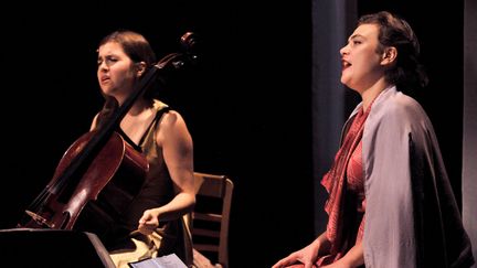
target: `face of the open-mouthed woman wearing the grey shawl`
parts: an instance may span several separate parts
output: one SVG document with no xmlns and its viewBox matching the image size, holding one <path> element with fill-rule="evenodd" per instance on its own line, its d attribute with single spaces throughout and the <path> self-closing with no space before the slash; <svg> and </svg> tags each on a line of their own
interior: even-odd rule
<svg viewBox="0 0 477 268">
<path fill-rule="evenodd" d="M 370 88 L 384 76 L 379 53 L 379 25 L 361 24 L 340 50 L 341 83 L 359 93 Z"/>
</svg>

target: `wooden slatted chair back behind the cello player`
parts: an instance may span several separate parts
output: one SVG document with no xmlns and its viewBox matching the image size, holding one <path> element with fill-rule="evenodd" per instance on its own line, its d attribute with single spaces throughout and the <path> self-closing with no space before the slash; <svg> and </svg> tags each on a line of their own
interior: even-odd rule
<svg viewBox="0 0 477 268">
<path fill-rule="evenodd" d="M 194 172 L 197 203 L 191 214 L 194 265 L 229 267 L 229 221 L 233 182 L 226 175 Z"/>
</svg>

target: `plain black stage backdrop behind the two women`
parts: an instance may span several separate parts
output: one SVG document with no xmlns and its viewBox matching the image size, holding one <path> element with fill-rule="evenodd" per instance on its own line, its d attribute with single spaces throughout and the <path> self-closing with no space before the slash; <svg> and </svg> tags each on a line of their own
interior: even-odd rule
<svg viewBox="0 0 477 268">
<path fill-rule="evenodd" d="M 414 28 L 431 76 L 417 98 L 434 122 L 459 197 L 463 3 L 413 4 L 358 1 L 357 15 L 388 9 Z M 235 183 L 231 267 L 269 267 L 320 232 L 312 215 L 311 2 L 9 6 L 0 19 L 0 228 L 15 225 L 68 146 L 88 130 L 103 104 L 97 43 L 126 28 L 142 33 L 159 58 L 180 50 L 184 32 L 198 35 L 198 68 L 162 94 L 188 122 L 195 170 L 227 174 Z"/>
</svg>

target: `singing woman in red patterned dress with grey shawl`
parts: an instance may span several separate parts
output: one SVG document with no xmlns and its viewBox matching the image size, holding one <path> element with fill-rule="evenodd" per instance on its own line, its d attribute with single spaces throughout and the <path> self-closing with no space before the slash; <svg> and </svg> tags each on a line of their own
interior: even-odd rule
<svg viewBox="0 0 477 268">
<path fill-rule="evenodd" d="M 341 83 L 362 101 L 321 180 L 327 229 L 273 268 L 471 267 L 433 126 L 406 95 L 427 84 L 410 24 L 385 11 L 363 15 L 340 54 Z"/>
</svg>

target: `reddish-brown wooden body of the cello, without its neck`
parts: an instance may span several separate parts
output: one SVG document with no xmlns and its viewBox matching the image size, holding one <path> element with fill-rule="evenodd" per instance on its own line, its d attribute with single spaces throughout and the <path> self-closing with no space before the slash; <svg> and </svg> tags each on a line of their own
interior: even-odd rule
<svg viewBox="0 0 477 268">
<path fill-rule="evenodd" d="M 30 207 L 29 221 L 18 227 L 80 229 L 99 237 L 117 228 L 114 225 L 120 223 L 121 213 L 138 194 L 149 169 L 146 158 L 119 133 L 113 132 L 100 150 L 82 163 L 67 185 L 53 190 L 59 176 L 95 135 L 83 135 L 67 149 L 44 190 L 41 206 Z M 95 215 L 88 215 L 92 213 Z"/>
</svg>

